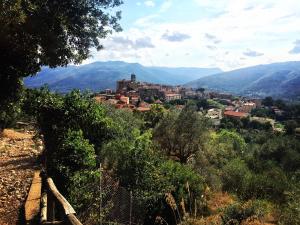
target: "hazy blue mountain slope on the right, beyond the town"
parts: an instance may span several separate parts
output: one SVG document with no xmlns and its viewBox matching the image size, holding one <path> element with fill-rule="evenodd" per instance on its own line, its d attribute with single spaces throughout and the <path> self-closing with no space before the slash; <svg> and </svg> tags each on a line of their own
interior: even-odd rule
<svg viewBox="0 0 300 225">
<path fill-rule="evenodd" d="M 200 78 L 185 86 L 204 87 L 240 95 L 297 98 L 300 96 L 300 62 L 238 69 Z"/>
</svg>

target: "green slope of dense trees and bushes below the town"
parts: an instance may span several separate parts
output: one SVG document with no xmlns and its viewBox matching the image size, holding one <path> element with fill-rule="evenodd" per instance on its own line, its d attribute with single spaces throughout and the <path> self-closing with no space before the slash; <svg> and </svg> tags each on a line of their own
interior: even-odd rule
<svg viewBox="0 0 300 225">
<path fill-rule="evenodd" d="M 49 176 L 83 222 L 109 220 L 105 211 L 99 217 L 100 163 L 106 176 L 133 193 L 144 209 L 142 224 L 212 217 L 216 224 L 300 222 L 300 140 L 294 133 L 250 126 L 247 118 L 224 119 L 213 129 L 193 102 L 182 110 L 153 105 L 139 113 L 91 97 L 28 90 L 23 104 L 43 134 Z M 293 114 L 299 118 L 299 111 Z M 213 210 L 214 196 L 225 193 L 232 200 Z"/>
</svg>

